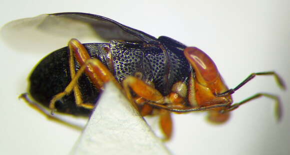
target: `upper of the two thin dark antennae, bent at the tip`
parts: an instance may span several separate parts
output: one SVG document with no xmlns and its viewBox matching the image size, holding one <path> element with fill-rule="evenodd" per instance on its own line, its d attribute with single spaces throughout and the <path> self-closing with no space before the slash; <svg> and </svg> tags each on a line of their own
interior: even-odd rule
<svg viewBox="0 0 290 155">
<path fill-rule="evenodd" d="M 238 84 L 235 88 L 229 89 L 221 94 L 217 94 L 216 96 L 222 97 L 222 96 L 228 96 L 233 94 L 236 90 L 238 90 L 240 87 L 242 87 L 244 84 L 246 84 L 248 81 L 253 79 L 256 75 L 272 75 L 275 78 L 275 81 L 277 82 L 278 86 L 281 89 L 285 89 L 285 85 L 283 80 L 280 78 L 278 74 L 275 72 L 258 72 L 258 73 L 251 73 L 246 79 L 244 79 L 240 84 Z"/>
</svg>

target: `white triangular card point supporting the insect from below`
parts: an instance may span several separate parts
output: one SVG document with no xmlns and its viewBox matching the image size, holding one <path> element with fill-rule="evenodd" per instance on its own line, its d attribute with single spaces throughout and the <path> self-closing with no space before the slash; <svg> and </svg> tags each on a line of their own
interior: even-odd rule
<svg viewBox="0 0 290 155">
<path fill-rule="evenodd" d="M 105 86 L 70 155 L 169 155 L 136 109 L 113 83 Z"/>
</svg>

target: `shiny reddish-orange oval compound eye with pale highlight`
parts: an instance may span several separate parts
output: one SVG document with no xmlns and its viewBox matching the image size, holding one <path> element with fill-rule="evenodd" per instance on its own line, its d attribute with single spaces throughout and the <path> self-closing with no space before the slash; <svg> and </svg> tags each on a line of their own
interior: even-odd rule
<svg viewBox="0 0 290 155">
<path fill-rule="evenodd" d="M 203 51 L 196 47 L 186 47 L 184 55 L 196 73 L 197 81 L 206 86 L 219 77 L 218 70 L 211 60 Z"/>
</svg>

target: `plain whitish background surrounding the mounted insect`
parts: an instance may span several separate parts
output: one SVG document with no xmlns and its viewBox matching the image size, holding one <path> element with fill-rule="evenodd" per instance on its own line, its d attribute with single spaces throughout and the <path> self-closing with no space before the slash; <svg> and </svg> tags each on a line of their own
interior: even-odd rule
<svg viewBox="0 0 290 155">
<path fill-rule="evenodd" d="M 202 49 L 231 88 L 252 72 L 269 70 L 279 73 L 289 86 L 289 0 L 147 1 L 1 0 L 0 26 L 43 13 L 99 14 L 153 36 L 166 35 Z M 26 90 L 32 67 L 48 53 L 45 47 L 37 53 L 13 51 L 0 42 L 0 155 L 65 155 L 80 134 L 47 121 L 17 99 Z M 280 95 L 280 123 L 273 117 L 273 101 L 266 98 L 238 108 L 221 126 L 204 121 L 205 113 L 174 115 L 174 135 L 167 147 L 176 155 L 287 155 L 289 92 L 278 89 L 272 77 L 256 77 L 233 98 L 238 102 L 257 92 Z"/>
</svg>

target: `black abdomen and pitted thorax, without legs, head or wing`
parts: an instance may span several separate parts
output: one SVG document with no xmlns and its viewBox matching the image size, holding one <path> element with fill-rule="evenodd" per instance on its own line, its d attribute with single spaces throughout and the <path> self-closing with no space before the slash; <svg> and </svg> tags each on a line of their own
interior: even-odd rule
<svg viewBox="0 0 290 155">
<path fill-rule="evenodd" d="M 170 39 L 167 37 L 161 38 L 167 41 Z M 128 75 L 138 75 L 141 76 L 142 80 L 154 83 L 155 88 L 163 96 L 166 96 L 173 83 L 188 81 L 187 77 L 191 68 L 181 49 L 174 51 L 175 53 L 166 53 L 170 54 L 170 56 L 167 56 L 159 47 L 144 47 L 146 44 L 142 42 L 112 40 L 110 43 L 83 45 L 90 57 L 100 60 L 114 74 L 118 82 L 123 81 Z M 182 44 L 179 46 L 185 48 Z M 170 73 L 169 65 L 172 69 Z M 77 61 L 75 61 L 75 68 L 76 71 L 80 68 Z M 61 48 L 45 57 L 34 68 L 29 81 L 29 92 L 32 98 L 48 107 L 52 97 L 62 92 L 71 81 L 68 48 Z M 97 89 L 85 74 L 78 80 L 78 85 L 85 103 L 95 103 L 97 101 L 101 90 Z M 89 116 L 88 109 L 77 107 L 74 103 L 73 94 L 69 94 L 58 100 L 55 108 L 58 112 Z"/>
</svg>

